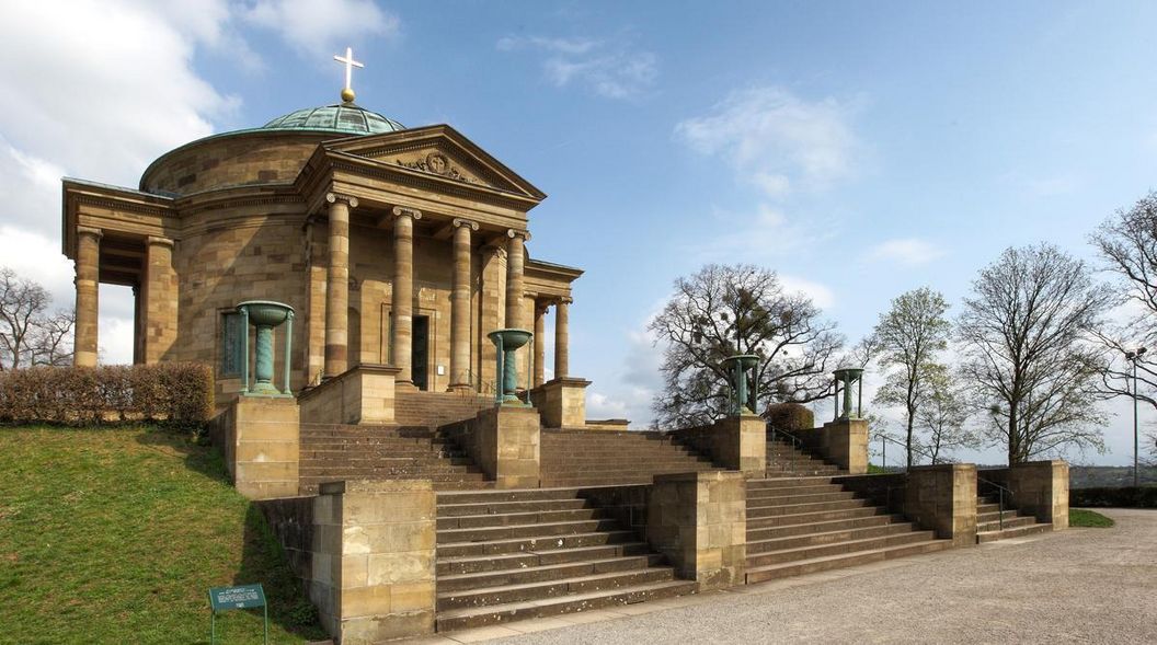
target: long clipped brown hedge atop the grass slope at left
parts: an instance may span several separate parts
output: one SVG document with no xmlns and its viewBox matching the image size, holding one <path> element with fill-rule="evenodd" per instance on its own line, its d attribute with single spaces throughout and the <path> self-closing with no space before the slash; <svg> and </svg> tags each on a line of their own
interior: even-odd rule
<svg viewBox="0 0 1157 645">
<path fill-rule="evenodd" d="M 196 425 L 212 415 L 213 372 L 196 363 L 0 372 L 0 422 L 5 423 Z"/>
</svg>

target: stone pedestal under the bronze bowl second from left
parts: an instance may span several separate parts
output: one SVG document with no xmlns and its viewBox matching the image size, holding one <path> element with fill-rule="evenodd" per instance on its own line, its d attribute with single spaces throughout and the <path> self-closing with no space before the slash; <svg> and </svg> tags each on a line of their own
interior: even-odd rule
<svg viewBox="0 0 1157 645">
<path fill-rule="evenodd" d="M 485 409 L 474 418 L 467 450 L 496 488 L 537 488 L 540 427 L 535 408 Z"/>
</svg>

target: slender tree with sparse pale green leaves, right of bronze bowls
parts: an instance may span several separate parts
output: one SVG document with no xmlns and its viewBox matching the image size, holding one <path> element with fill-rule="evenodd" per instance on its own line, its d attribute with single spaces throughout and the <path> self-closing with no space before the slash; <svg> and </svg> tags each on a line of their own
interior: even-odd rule
<svg viewBox="0 0 1157 645">
<path fill-rule="evenodd" d="M 904 407 L 909 467 L 913 465 L 913 428 L 926 395 L 924 376 L 937 354 L 948 347 L 952 329 L 944 318 L 946 311 L 943 295 L 921 287 L 893 299 L 892 307 L 880 314 L 872 332 L 880 363 L 892 368 L 875 401 Z"/>
</svg>

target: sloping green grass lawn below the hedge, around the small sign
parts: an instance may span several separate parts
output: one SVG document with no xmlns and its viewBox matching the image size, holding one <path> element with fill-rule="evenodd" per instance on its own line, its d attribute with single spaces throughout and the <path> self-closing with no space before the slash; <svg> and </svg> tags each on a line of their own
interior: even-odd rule
<svg viewBox="0 0 1157 645">
<path fill-rule="evenodd" d="M 148 428 L 0 428 L 0 643 L 208 643 L 208 588 L 252 583 L 271 643 L 325 637 L 215 451 Z M 218 642 L 260 643 L 250 611 L 219 618 Z"/>
</svg>

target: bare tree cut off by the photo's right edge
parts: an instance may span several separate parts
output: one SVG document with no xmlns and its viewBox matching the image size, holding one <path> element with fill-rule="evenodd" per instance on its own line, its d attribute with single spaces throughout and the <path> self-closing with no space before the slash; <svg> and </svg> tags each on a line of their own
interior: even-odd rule
<svg viewBox="0 0 1157 645">
<path fill-rule="evenodd" d="M 1101 369 L 1101 391 L 1108 396 L 1134 396 L 1157 409 L 1157 365 L 1138 359 L 1136 391 L 1133 363 L 1127 351 L 1157 342 L 1157 192 L 1120 208 L 1097 228 L 1090 242 L 1117 275 L 1113 284 L 1118 304 L 1132 314 L 1097 331 L 1108 349 Z"/>
</svg>

